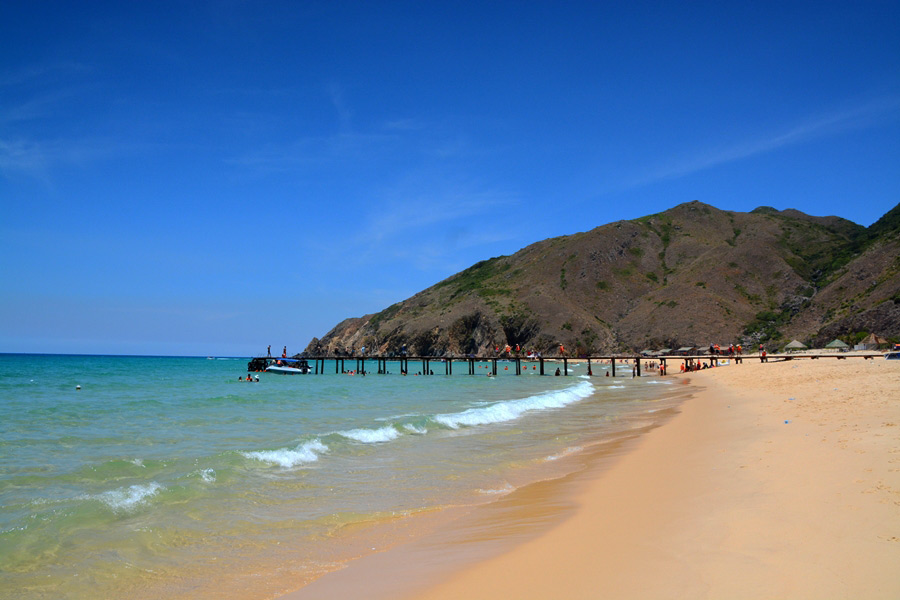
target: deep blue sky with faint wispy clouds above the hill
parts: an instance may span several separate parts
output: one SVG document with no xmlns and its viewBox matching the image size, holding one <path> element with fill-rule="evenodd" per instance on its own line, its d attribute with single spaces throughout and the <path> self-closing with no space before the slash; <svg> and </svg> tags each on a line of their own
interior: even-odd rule
<svg viewBox="0 0 900 600">
<path fill-rule="evenodd" d="M 897 2 L 0 4 L 0 351 L 299 351 L 700 200 L 900 198 Z"/>
</svg>

